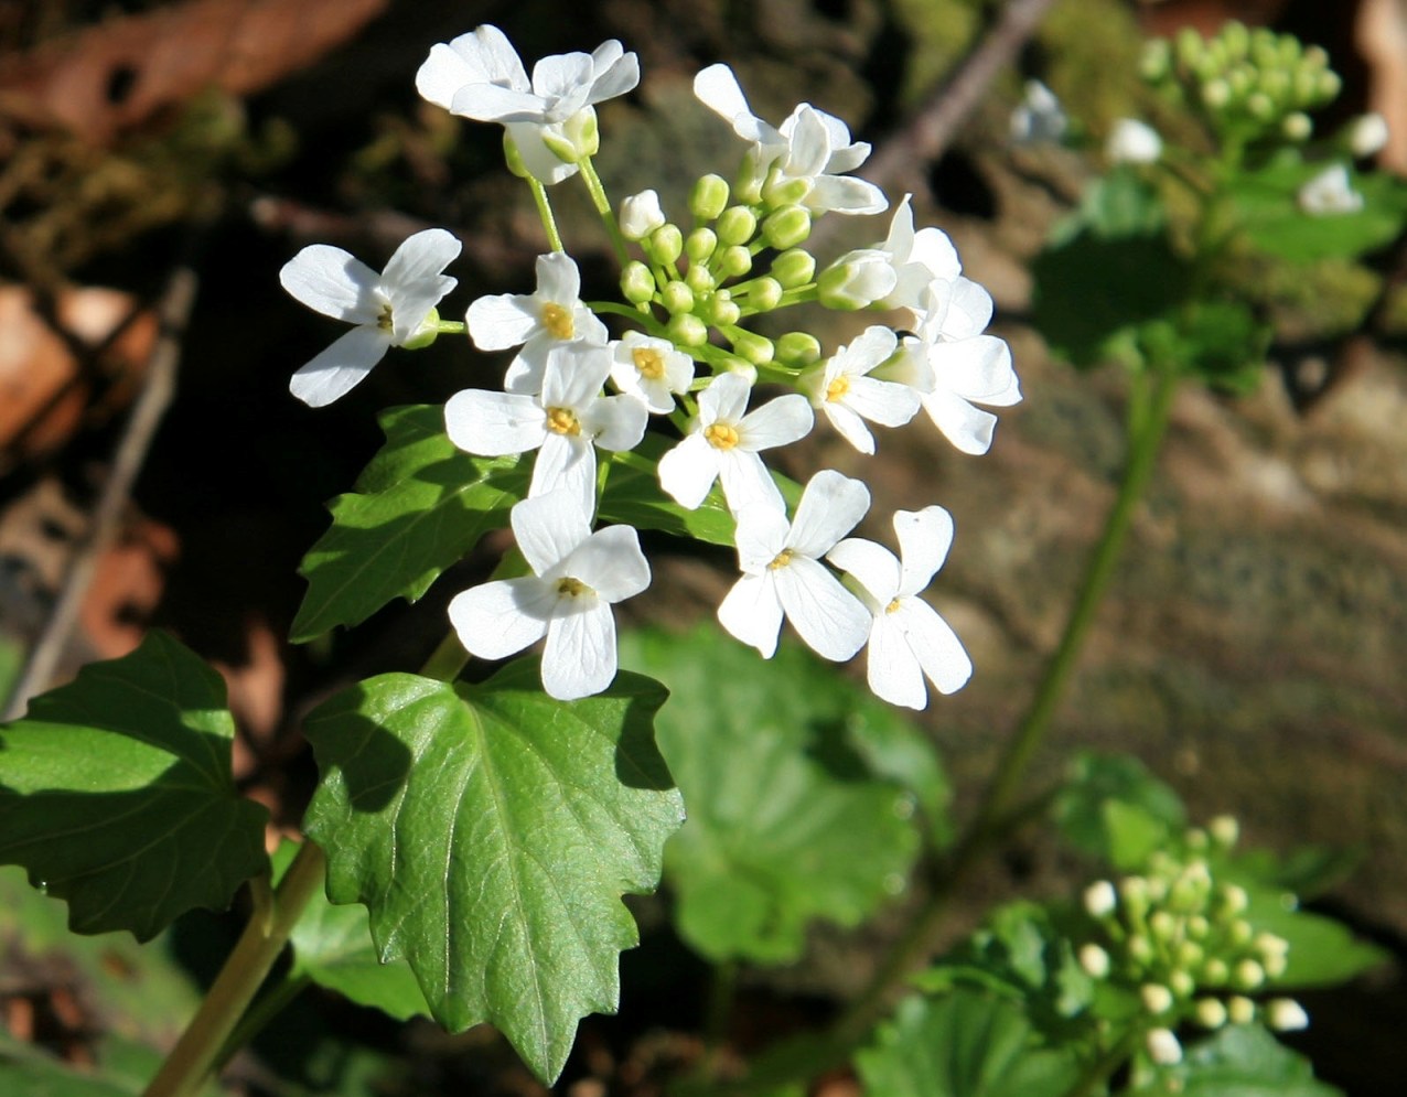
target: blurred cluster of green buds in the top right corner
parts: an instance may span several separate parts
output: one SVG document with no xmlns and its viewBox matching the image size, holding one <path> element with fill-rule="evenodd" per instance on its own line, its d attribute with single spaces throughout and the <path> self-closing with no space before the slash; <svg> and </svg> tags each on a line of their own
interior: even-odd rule
<svg viewBox="0 0 1407 1097">
<path fill-rule="evenodd" d="M 1306 141 L 1309 111 L 1338 94 L 1341 80 L 1328 53 L 1287 34 L 1228 23 L 1214 38 L 1192 28 L 1172 42 L 1148 44 L 1142 77 L 1202 114 L 1221 141 Z"/>
</svg>

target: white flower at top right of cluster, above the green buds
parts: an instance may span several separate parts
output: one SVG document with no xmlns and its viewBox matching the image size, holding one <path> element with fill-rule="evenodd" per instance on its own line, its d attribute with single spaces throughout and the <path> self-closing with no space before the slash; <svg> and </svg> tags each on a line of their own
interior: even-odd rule
<svg viewBox="0 0 1407 1097">
<path fill-rule="evenodd" d="M 695 76 L 694 94 L 753 142 L 749 159 L 758 181 L 774 173 L 781 183 L 805 180 L 808 193 L 799 203 L 813 214 L 878 214 L 889 204 L 874 183 L 843 174 L 865 162 L 870 145 L 853 142 L 850 128 L 834 115 L 802 103 L 774 129 L 749 108 L 726 65 L 711 65 Z"/>
</svg>

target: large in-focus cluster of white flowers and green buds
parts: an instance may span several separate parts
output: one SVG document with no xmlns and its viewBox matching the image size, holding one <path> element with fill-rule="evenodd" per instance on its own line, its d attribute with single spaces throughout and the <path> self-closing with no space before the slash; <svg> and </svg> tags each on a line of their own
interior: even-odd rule
<svg viewBox="0 0 1407 1097">
<path fill-rule="evenodd" d="M 685 224 L 653 190 L 626 197 L 616 217 L 591 165 L 595 105 L 637 80 L 635 55 L 613 41 L 590 55 L 545 58 L 529 80 L 494 27 L 436 45 L 416 77 L 431 103 L 505 127 L 509 166 L 542 208 L 550 208 L 549 186 L 580 176 L 622 263 L 623 301 L 582 301 L 577 264 L 559 248 L 537 259 L 533 293 L 469 307 L 474 345 L 512 359 L 504 391 L 471 388 L 447 402 L 446 432 L 467 453 L 532 463 L 526 498 L 511 513 L 530 574 L 463 592 L 450 620 L 466 650 L 484 658 L 545 639 L 543 685 L 556 698 L 606 688 L 616 669 L 611 605 L 643 591 L 650 570 L 633 529 L 594 530 L 599 492 L 612 461 L 649 461 L 661 499 L 681 513 L 718 491 L 733 518 L 741 575 L 718 610 L 733 636 L 764 657 L 784 620 L 829 660 L 868 644 L 875 693 L 923 707 L 927 682 L 951 692 L 971 674 L 957 636 L 920 598 L 947 556 L 953 519 L 936 505 L 899 511 L 895 556 L 848 536 L 870 509 L 861 481 L 822 470 L 788 512 L 765 454 L 809 435 L 817 419 L 872 454 L 872 425 L 898 428 L 920 411 L 961 451 L 985 453 L 996 423 L 988 408 L 1021 398 L 1007 345 L 986 333 L 992 298 L 962 274 L 943 232 L 915 228 L 908 195 L 882 240 L 820 266 L 803 248 L 817 218 L 889 205 L 879 187 L 850 174 L 870 146 L 806 103 L 774 127 L 753 114 L 723 65 L 701 72 L 694 89 L 746 142 L 733 181 L 701 177 Z M 343 336 L 356 336 L 350 364 L 360 373 L 345 380 L 339 340 L 298 377 L 322 377 L 329 356 L 342 373 L 315 390 L 295 378 L 297 395 L 325 404 L 386 346 L 460 329 L 436 312 L 453 287 L 440 273 L 453 259 L 446 239 L 438 229 L 411 238 L 380 277 L 326 248 L 286 267 L 294 295 L 360 325 Z M 829 354 L 805 331 L 765 338 L 750 326 L 802 304 L 885 315 Z M 373 340 L 374 356 L 360 349 Z M 632 453 L 651 418 L 677 436 L 657 463 Z"/>
</svg>

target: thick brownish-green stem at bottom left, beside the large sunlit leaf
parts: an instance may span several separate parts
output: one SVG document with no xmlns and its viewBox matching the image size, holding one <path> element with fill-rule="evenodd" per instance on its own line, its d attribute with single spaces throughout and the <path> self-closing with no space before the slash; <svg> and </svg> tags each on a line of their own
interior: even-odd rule
<svg viewBox="0 0 1407 1097">
<path fill-rule="evenodd" d="M 187 1097 L 204 1084 L 308 900 L 322 886 L 324 861 L 317 845 L 303 844 L 273 893 L 270 909 L 255 911 L 205 1000 L 142 1097 Z"/>
</svg>

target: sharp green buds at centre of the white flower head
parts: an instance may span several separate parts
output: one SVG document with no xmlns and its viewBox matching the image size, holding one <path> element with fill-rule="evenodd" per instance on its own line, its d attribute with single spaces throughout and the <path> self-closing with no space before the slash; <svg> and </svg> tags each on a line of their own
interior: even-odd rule
<svg viewBox="0 0 1407 1097">
<path fill-rule="evenodd" d="M 792 180 L 801 183 L 801 180 Z M 688 231 L 668 221 L 653 190 L 620 204 L 620 232 L 646 260 L 632 260 L 620 290 L 642 314 L 663 319 L 663 335 L 716 367 L 756 378 L 757 370 L 795 373 L 820 357 L 820 343 L 805 332 L 779 339 L 739 326 L 749 316 L 815 298 L 816 260 L 799 245 L 810 236 L 812 212 L 799 204 L 801 187 L 763 187 L 753 201 L 733 194 L 716 174 L 689 191 Z M 761 257 L 770 255 L 765 270 Z M 660 316 L 663 314 L 663 318 Z M 732 347 L 709 346 L 711 329 Z"/>
</svg>

